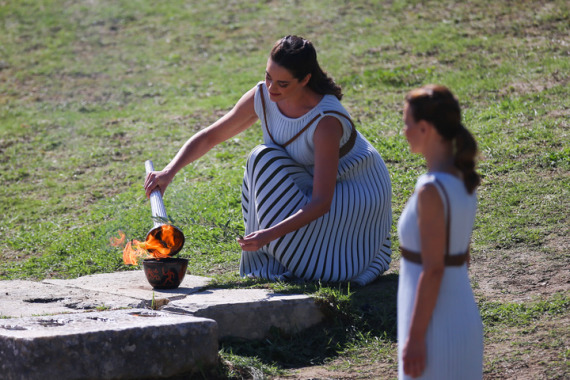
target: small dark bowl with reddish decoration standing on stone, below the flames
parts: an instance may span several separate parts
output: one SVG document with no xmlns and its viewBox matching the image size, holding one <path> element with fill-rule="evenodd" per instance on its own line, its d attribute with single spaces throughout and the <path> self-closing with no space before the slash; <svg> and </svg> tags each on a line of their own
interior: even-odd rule
<svg viewBox="0 0 570 380">
<path fill-rule="evenodd" d="M 143 260 L 144 274 L 154 289 L 178 288 L 186 275 L 187 268 L 188 259 L 179 257 Z"/>
</svg>

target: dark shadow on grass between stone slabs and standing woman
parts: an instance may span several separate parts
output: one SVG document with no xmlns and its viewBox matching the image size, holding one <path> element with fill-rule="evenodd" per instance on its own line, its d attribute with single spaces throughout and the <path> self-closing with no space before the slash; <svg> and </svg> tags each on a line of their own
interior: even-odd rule
<svg viewBox="0 0 570 380">
<path fill-rule="evenodd" d="M 316 292 L 310 291 L 312 287 Z M 396 341 L 396 274 L 381 276 L 374 283 L 356 289 L 347 284 L 292 284 L 287 289 L 315 296 L 327 317 L 325 322 L 298 334 L 275 329 L 263 340 L 225 339 L 220 342 L 221 350 L 256 358 L 267 366 L 292 369 L 333 360 L 366 338 Z"/>
</svg>

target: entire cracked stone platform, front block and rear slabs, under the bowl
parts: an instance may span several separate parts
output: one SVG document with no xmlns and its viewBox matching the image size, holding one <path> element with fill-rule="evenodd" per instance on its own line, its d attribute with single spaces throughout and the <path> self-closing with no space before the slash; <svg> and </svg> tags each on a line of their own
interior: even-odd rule
<svg viewBox="0 0 570 380">
<path fill-rule="evenodd" d="M 209 282 L 186 275 L 179 288 L 156 290 L 142 270 L 0 281 L 0 378 L 167 377 L 213 363 L 221 338 L 295 333 L 324 318 L 306 295 Z"/>
</svg>

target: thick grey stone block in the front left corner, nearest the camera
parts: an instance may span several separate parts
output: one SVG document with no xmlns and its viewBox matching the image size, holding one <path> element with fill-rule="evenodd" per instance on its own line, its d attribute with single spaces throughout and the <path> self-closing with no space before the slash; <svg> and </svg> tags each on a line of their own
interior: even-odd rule
<svg viewBox="0 0 570 380">
<path fill-rule="evenodd" d="M 215 321 L 146 309 L 0 320 L 2 379 L 145 379 L 218 360 Z"/>
</svg>

